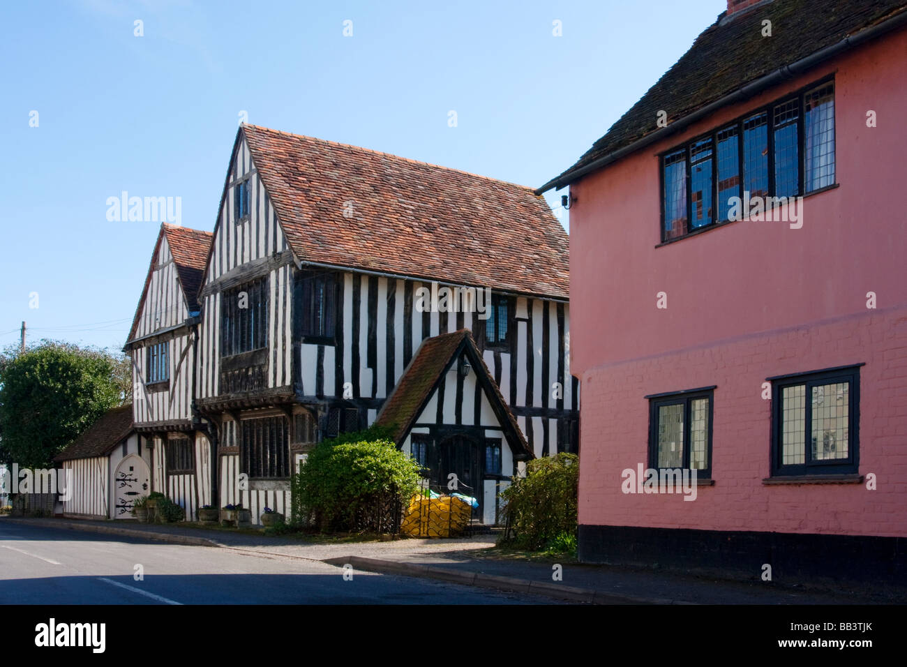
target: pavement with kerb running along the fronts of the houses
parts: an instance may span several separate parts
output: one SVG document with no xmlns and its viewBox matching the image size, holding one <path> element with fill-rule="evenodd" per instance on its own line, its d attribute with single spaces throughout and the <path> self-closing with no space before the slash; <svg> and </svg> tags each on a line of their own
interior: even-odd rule
<svg viewBox="0 0 907 667">
<path fill-rule="evenodd" d="M 88 531 L 171 544 L 208 546 L 290 558 L 356 571 L 434 579 L 521 593 L 552 601 L 608 604 L 872 604 L 904 603 L 901 593 L 776 582 L 736 581 L 614 565 L 557 564 L 502 558 L 488 552 L 493 535 L 454 539 L 322 542 L 181 525 L 145 525 L 61 518 L 0 517 L 0 525 Z"/>
</svg>

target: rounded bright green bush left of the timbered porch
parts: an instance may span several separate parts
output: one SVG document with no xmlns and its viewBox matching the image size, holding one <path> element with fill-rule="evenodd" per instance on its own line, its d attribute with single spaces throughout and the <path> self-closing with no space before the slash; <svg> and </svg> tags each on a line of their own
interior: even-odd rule
<svg viewBox="0 0 907 667">
<path fill-rule="evenodd" d="M 385 429 L 347 433 L 315 446 L 292 477 L 291 521 L 304 525 L 314 518 L 323 531 L 380 531 L 418 484 L 418 464 Z"/>
</svg>

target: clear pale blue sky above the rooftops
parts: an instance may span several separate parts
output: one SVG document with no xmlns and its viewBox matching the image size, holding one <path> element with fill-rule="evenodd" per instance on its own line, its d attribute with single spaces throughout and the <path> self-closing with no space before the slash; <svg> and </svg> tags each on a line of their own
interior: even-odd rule
<svg viewBox="0 0 907 667">
<path fill-rule="evenodd" d="M 26 320 L 29 339 L 121 348 L 160 224 L 108 221 L 107 198 L 180 197 L 183 225 L 213 229 L 239 113 L 538 187 L 725 7 L 3 3 L 0 347 Z"/>
</svg>

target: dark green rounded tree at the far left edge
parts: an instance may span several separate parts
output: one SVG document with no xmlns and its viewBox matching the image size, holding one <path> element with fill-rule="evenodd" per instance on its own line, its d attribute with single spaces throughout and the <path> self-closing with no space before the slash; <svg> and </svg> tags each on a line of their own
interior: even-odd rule
<svg viewBox="0 0 907 667">
<path fill-rule="evenodd" d="M 111 407 L 132 399 L 128 362 L 98 348 L 42 340 L 0 354 L 0 460 L 49 467 Z M 128 381 L 128 384 L 127 384 Z"/>
</svg>

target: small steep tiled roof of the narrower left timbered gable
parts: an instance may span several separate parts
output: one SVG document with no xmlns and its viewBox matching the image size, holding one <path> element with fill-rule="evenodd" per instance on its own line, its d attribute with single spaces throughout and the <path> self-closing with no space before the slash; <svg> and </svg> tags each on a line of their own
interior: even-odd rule
<svg viewBox="0 0 907 667">
<path fill-rule="evenodd" d="M 180 280 L 183 297 L 186 299 L 186 306 L 190 313 L 199 310 L 199 289 L 201 281 L 204 279 L 205 264 L 208 261 L 213 234 L 210 231 L 190 230 L 188 227 L 164 222 L 161 224 L 158 240 L 154 243 L 151 265 L 145 275 L 145 284 L 141 288 L 141 298 L 135 309 L 135 316 L 132 318 L 132 328 L 129 330 L 129 337 L 126 338 L 127 343 L 135 338 L 141 308 L 148 296 L 148 286 L 151 285 L 154 262 L 157 260 L 158 250 L 161 249 L 161 239 L 164 237 L 167 238 L 167 245 L 170 247 L 173 263 L 176 265 L 177 277 Z"/>
</svg>

